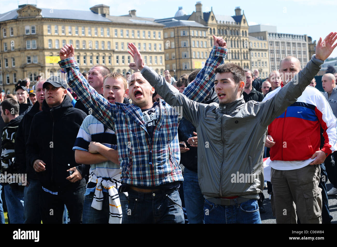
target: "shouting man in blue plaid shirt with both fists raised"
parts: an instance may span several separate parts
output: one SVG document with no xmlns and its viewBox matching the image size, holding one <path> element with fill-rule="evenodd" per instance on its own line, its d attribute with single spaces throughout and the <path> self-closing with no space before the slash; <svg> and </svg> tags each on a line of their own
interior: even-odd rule
<svg viewBox="0 0 337 247">
<path fill-rule="evenodd" d="M 211 90 L 213 69 L 227 54 L 225 41 L 214 36 L 214 47 L 205 67 L 184 93 L 203 101 Z M 178 115 L 162 99 L 152 102 L 154 88 L 140 72 L 131 75 L 128 93 L 132 104 L 111 104 L 83 78 L 74 59 L 74 48 L 60 50 L 60 66 L 68 83 L 93 111 L 93 116 L 117 135 L 122 168 L 120 192 L 128 192 L 130 223 L 184 223 L 178 187 L 183 180 L 179 167 Z"/>
</svg>

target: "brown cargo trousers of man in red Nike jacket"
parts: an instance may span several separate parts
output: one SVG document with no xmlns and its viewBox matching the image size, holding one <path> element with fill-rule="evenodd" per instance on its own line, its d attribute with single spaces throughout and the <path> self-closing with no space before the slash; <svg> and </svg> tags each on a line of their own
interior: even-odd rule
<svg viewBox="0 0 337 247">
<path fill-rule="evenodd" d="M 281 171 L 271 168 L 271 205 L 276 223 L 322 223 L 319 165 Z M 296 207 L 295 207 L 295 205 Z"/>
</svg>

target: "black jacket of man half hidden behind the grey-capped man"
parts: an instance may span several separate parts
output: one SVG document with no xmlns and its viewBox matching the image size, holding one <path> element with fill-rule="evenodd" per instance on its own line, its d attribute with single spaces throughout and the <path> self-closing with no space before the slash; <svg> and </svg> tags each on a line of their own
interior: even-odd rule
<svg viewBox="0 0 337 247">
<path fill-rule="evenodd" d="M 40 112 L 40 104 L 36 101 L 30 111 L 22 118 L 15 138 L 16 162 L 20 167 L 20 173 L 27 173 L 28 179 L 37 179 L 34 168 L 28 165 L 26 159 L 26 143 L 33 117 L 38 112 Z"/>
</svg>

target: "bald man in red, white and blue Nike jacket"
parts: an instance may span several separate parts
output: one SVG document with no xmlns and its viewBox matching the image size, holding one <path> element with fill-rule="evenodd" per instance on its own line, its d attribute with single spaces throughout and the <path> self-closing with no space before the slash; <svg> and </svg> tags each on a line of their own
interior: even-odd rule
<svg viewBox="0 0 337 247">
<path fill-rule="evenodd" d="M 293 78 L 296 80 L 300 70 L 297 58 L 283 58 L 279 67 L 281 87 Z M 272 98 L 281 87 L 267 94 L 264 100 Z M 320 127 L 325 137 L 322 148 Z M 271 203 L 276 223 L 296 223 L 297 217 L 301 223 L 322 223 L 320 164 L 337 149 L 336 135 L 336 118 L 329 103 L 313 87 L 306 87 L 298 100 L 268 126 L 266 147 L 270 148 Z M 325 199 L 327 214 L 323 215 L 323 222 L 329 223 L 327 196 Z"/>
</svg>

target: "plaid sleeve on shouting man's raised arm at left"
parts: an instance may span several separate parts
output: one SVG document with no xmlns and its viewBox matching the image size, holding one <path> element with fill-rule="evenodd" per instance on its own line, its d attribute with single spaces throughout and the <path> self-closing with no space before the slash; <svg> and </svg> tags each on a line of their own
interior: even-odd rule
<svg viewBox="0 0 337 247">
<path fill-rule="evenodd" d="M 117 105 L 110 104 L 108 100 L 89 85 L 80 73 L 79 66 L 74 57 L 59 61 L 59 65 L 67 72 L 69 86 L 87 107 L 89 114 L 92 114 L 98 121 L 115 130 L 114 116 L 117 113 Z"/>
</svg>

